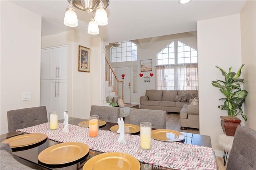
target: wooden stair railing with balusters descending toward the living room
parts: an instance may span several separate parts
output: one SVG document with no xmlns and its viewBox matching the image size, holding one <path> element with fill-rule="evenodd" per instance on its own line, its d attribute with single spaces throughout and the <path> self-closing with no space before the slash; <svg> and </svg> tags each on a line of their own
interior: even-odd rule
<svg viewBox="0 0 256 170">
<path fill-rule="evenodd" d="M 122 83 L 122 101 L 124 102 L 124 81 L 118 79 L 116 72 L 110 65 L 106 54 L 105 60 L 105 80 L 108 81 L 108 86 L 112 86 L 112 92 L 115 92 L 116 96 L 120 96 L 119 84 Z"/>
</svg>

